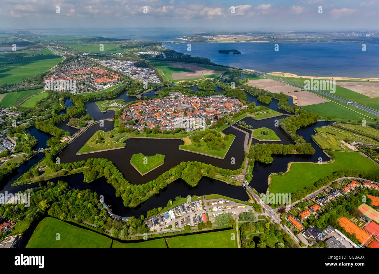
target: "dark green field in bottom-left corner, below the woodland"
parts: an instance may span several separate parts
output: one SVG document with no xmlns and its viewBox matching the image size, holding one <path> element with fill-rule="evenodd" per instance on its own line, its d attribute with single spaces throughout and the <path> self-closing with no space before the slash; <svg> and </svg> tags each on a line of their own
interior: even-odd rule
<svg viewBox="0 0 379 274">
<path fill-rule="evenodd" d="M 60 240 L 56 240 L 57 233 Z M 31 235 L 27 248 L 109 248 L 112 240 L 96 232 L 46 217 Z"/>
</svg>

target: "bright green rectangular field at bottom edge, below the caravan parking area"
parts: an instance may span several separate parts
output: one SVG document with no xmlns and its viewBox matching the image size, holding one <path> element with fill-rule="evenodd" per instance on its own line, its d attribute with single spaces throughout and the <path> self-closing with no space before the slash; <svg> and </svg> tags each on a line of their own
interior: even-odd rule
<svg viewBox="0 0 379 274">
<path fill-rule="evenodd" d="M 236 248 L 235 229 L 166 238 L 169 248 Z"/>
</svg>

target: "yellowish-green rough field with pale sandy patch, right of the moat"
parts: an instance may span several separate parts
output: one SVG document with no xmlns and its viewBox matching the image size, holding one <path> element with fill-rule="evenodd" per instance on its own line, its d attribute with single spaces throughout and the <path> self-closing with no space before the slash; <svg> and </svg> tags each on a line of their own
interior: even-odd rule
<svg viewBox="0 0 379 274">
<path fill-rule="evenodd" d="M 340 124 L 340 125 L 345 126 L 345 124 Z M 363 128 L 360 125 L 358 127 Z M 372 129 L 375 130 L 374 128 Z M 334 127 L 332 125 L 327 125 L 326 127 L 317 127 L 315 128 L 315 130 L 317 132 L 317 135 L 314 137 L 314 140 L 323 149 L 358 150 L 357 148 L 350 146 L 349 144 L 346 144 L 350 142 L 363 142 L 365 144 L 379 145 L 379 142 L 375 141 L 374 139 L 368 138 L 366 136 L 363 136 L 363 135 L 360 135 L 348 130 L 343 130 L 342 128 L 339 128 L 339 127 Z"/>
</svg>

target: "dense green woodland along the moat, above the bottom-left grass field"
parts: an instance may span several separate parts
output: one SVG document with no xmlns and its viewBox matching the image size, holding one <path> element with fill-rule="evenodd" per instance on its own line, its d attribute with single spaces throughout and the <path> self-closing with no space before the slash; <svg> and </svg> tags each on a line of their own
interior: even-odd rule
<svg viewBox="0 0 379 274">
<path fill-rule="evenodd" d="M 148 229 L 143 223 L 144 217 L 131 217 L 128 222 L 112 220 L 106 209 L 102 207 L 99 195 L 92 190 L 73 190 L 67 183 L 47 182 L 45 186 L 25 190 L 30 194 L 30 206 L 25 204 L 3 204 L 0 206 L 0 215 L 10 220 L 33 223 L 45 214 L 63 221 L 75 223 L 86 222 L 95 224 L 100 233 L 108 230 L 113 237 L 125 239 L 128 235 L 146 233 Z M 11 229 L 10 232 L 12 232 Z M 6 234 L 0 234 L 5 237 Z"/>
</svg>

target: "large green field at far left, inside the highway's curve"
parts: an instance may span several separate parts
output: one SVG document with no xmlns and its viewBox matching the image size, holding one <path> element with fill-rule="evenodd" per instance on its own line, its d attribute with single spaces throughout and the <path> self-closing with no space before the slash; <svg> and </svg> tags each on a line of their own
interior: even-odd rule
<svg viewBox="0 0 379 274">
<path fill-rule="evenodd" d="M 48 49 L 0 53 L 0 85 L 22 82 L 50 70 L 62 60 L 62 56 L 53 54 Z"/>
</svg>

